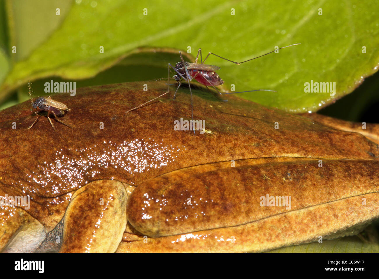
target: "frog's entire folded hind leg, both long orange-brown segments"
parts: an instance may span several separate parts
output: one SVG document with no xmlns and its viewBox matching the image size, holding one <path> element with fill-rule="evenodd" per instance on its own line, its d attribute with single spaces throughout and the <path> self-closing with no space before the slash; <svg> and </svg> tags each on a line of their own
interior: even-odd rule
<svg viewBox="0 0 379 279">
<path fill-rule="evenodd" d="M 117 252 L 263 252 L 358 233 L 379 217 L 379 164 L 323 163 L 243 159 L 144 181 L 127 205 L 128 221 L 139 233 L 125 232 Z"/>
</svg>

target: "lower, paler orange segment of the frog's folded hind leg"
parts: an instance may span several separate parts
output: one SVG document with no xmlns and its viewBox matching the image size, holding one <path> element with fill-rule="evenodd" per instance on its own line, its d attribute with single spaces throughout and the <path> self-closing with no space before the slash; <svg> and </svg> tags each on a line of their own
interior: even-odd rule
<svg viewBox="0 0 379 279">
<path fill-rule="evenodd" d="M 362 197 L 368 200 L 365 206 Z M 327 238 L 341 228 L 338 236 L 351 235 L 349 230 L 356 232 L 351 225 L 367 224 L 378 217 L 378 211 L 379 194 L 366 194 L 235 227 L 148 238 L 145 242 L 123 241 L 116 252 L 263 252 L 318 241 L 319 236 Z"/>
</svg>

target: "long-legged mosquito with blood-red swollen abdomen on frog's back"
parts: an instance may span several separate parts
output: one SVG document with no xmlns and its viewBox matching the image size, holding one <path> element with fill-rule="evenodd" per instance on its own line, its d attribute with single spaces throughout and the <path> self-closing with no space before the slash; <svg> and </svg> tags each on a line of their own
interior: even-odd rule
<svg viewBox="0 0 379 279">
<path fill-rule="evenodd" d="M 300 44 L 300 43 L 298 43 Z M 270 54 L 270 53 L 273 53 L 275 52 L 276 50 L 279 50 L 279 49 L 284 49 L 286 47 L 290 47 L 290 46 L 296 46 L 298 44 L 291 44 L 289 46 L 285 46 L 285 47 L 280 47 L 278 49 L 275 49 L 273 51 L 270 51 L 266 54 L 263 54 L 263 55 L 260 55 L 260 56 L 257 56 L 257 57 L 254 57 L 254 58 L 251 58 L 251 59 L 248 59 L 246 61 L 242 61 L 242 62 L 236 62 L 236 61 L 232 61 L 232 60 L 229 60 L 227 58 L 224 58 L 224 57 L 221 57 L 217 54 L 214 54 L 212 52 L 209 52 L 208 55 L 205 57 L 204 61 L 202 60 L 202 55 L 201 55 L 201 48 L 197 51 L 197 55 L 196 55 L 196 60 L 195 60 L 195 63 L 189 63 L 187 61 L 184 61 L 183 59 L 183 55 L 182 53 L 179 51 L 179 54 L 180 54 L 180 59 L 182 61 L 179 61 L 178 63 L 176 63 L 175 67 L 173 67 L 170 63 L 168 63 L 168 84 L 167 84 L 167 92 L 163 93 L 162 95 L 156 97 L 156 98 L 153 98 L 151 99 L 150 101 L 147 101 L 147 102 L 144 102 L 143 104 L 137 106 L 137 107 L 134 107 L 133 109 L 130 109 L 128 110 L 127 112 L 130 112 L 132 110 L 135 110 L 135 109 L 138 109 L 146 104 L 148 104 L 149 102 L 151 101 L 154 101 L 155 99 L 158 99 L 164 95 L 166 95 L 167 93 L 169 93 L 170 91 L 170 67 L 172 69 L 174 69 L 174 71 L 176 72 L 176 74 L 172 77 L 172 79 L 176 80 L 177 82 L 177 85 L 178 87 L 176 88 L 175 90 L 175 93 L 174 93 L 174 100 L 175 100 L 175 97 L 176 97 L 176 93 L 181 85 L 180 81 L 181 80 L 185 80 L 187 83 L 188 83 L 188 87 L 189 87 L 189 92 L 191 93 L 191 119 L 193 120 L 193 101 L 192 101 L 192 90 L 191 90 L 191 85 L 189 84 L 189 81 L 190 80 L 196 80 L 197 82 L 199 82 L 200 84 L 203 84 L 205 85 L 207 88 L 208 86 L 211 86 L 213 87 L 220 95 L 226 95 L 226 94 L 236 94 L 236 93 L 246 93 L 246 92 L 254 92 L 254 91 L 272 91 L 272 92 L 276 92 L 274 90 L 269 90 L 269 89 L 257 89 L 257 90 L 249 90 L 249 91 L 240 91 L 240 92 L 229 92 L 229 93 L 221 93 L 220 91 L 217 90 L 217 88 L 215 86 L 218 86 L 218 85 L 222 85 L 224 84 L 224 80 L 221 79 L 221 77 L 219 77 L 218 74 L 216 74 L 215 71 L 219 70 L 220 67 L 218 66 L 214 66 L 214 65 L 207 65 L 207 64 L 204 64 L 205 60 L 207 60 L 207 58 L 209 57 L 209 55 L 213 54 L 221 59 L 224 59 L 224 60 L 227 60 L 227 61 L 230 61 L 232 63 L 235 63 L 237 65 L 240 65 L 242 63 L 245 63 L 247 61 L 251 61 L 251 60 L 254 60 L 256 58 L 259 58 L 259 57 L 262 57 L 262 56 L 265 56 L 267 54 Z M 199 59 L 199 54 L 200 54 L 200 61 L 201 63 L 197 63 L 197 60 Z M 227 100 L 224 100 L 224 101 L 227 101 Z M 195 131 L 193 131 L 195 132 Z"/>
</svg>

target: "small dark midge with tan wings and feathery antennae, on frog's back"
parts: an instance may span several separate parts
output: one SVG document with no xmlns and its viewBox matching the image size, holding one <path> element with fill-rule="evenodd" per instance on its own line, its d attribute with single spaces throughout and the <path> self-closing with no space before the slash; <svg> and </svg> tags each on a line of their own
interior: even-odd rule
<svg viewBox="0 0 379 279">
<path fill-rule="evenodd" d="M 56 121 L 70 127 L 69 125 L 67 125 L 66 123 L 64 123 L 62 120 L 59 120 L 57 116 L 62 116 L 64 115 L 64 113 L 66 113 L 67 111 L 69 111 L 70 109 L 65 105 L 65 104 L 62 104 L 61 102 L 58 102 L 58 101 L 55 101 L 53 100 L 50 96 L 49 97 L 38 97 L 35 101 L 33 100 L 32 98 L 32 94 L 33 94 L 33 90 L 31 89 L 31 82 L 29 80 L 28 82 L 28 88 L 29 88 L 29 96 L 30 96 L 30 101 L 31 101 L 31 105 L 33 106 L 34 109 L 36 109 L 36 112 L 34 112 L 36 115 L 38 115 L 38 113 L 40 112 L 47 112 L 47 119 L 49 120 L 51 126 L 53 127 L 54 131 L 55 130 L 55 127 L 53 125 L 53 122 L 51 121 L 49 115 L 50 113 L 52 113 L 54 115 L 54 118 Z M 30 109 L 32 110 L 32 109 Z M 28 129 L 30 129 L 31 127 L 33 127 L 33 125 L 37 122 L 38 118 L 40 118 L 41 115 L 38 115 L 38 117 L 36 118 L 36 120 L 34 120 L 33 124 L 30 125 L 30 127 Z"/>
</svg>

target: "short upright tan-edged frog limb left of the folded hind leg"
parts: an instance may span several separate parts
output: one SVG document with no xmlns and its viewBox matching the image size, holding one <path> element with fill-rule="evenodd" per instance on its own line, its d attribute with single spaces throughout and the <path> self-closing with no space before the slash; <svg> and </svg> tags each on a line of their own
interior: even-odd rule
<svg viewBox="0 0 379 279">
<path fill-rule="evenodd" d="M 78 189 L 64 214 L 60 252 L 114 252 L 127 224 L 127 190 L 116 180 Z"/>
</svg>

